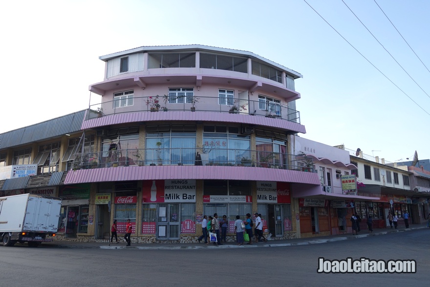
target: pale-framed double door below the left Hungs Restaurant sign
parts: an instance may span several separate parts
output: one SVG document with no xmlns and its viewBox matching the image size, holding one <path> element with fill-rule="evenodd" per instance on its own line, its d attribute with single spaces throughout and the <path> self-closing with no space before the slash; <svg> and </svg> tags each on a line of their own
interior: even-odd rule
<svg viewBox="0 0 430 287">
<path fill-rule="evenodd" d="M 157 210 L 158 240 L 178 240 L 180 231 L 179 203 L 161 203 Z"/>
</svg>

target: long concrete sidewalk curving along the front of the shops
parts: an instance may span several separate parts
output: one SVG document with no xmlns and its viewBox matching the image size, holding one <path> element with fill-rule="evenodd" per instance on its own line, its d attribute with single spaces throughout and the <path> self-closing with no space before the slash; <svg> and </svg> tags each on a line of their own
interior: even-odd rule
<svg viewBox="0 0 430 287">
<path fill-rule="evenodd" d="M 215 246 L 212 243 L 131 243 L 131 246 L 126 246 L 126 242 L 123 238 L 119 238 L 120 243 L 110 243 L 106 242 L 73 242 L 73 241 L 53 241 L 49 243 L 42 243 L 42 247 L 52 247 L 52 248 L 100 248 L 100 249 L 207 249 L 207 248 L 258 248 L 258 247 L 280 247 L 280 246 L 296 246 L 296 245 L 309 245 L 309 244 L 319 244 L 327 242 L 335 242 L 342 240 L 351 240 L 357 238 L 363 238 L 368 236 L 378 236 L 385 235 L 396 232 L 405 232 L 416 229 L 427 228 L 427 224 L 414 224 L 409 228 L 402 229 L 375 229 L 373 233 L 368 233 L 368 231 L 362 231 L 361 234 L 352 235 L 331 235 L 322 237 L 312 237 L 312 238 L 299 238 L 299 239 L 287 239 L 287 240 L 269 240 L 266 243 L 253 243 L 252 245 L 237 245 L 234 242 L 223 243 L 222 245 Z"/>
</svg>

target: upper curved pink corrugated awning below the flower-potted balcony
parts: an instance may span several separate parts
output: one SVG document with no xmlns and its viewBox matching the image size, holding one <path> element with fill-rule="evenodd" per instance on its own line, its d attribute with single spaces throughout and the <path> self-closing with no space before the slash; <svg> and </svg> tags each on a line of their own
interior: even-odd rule
<svg viewBox="0 0 430 287">
<path fill-rule="evenodd" d="M 139 123 L 149 121 L 213 121 L 226 123 L 241 123 L 248 125 L 259 125 L 271 128 L 279 128 L 287 131 L 306 133 L 303 125 L 287 120 L 273 119 L 260 116 L 251 116 L 247 114 L 230 114 L 230 113 L 211 113 L 195 111 L 169 111 L 169 112 L 130 112 L 116 115 L 106 115 L 100 118 L 94 118 L 82 123 L 82 130 L 104 127 L 122 123 Z"/>
</svg>

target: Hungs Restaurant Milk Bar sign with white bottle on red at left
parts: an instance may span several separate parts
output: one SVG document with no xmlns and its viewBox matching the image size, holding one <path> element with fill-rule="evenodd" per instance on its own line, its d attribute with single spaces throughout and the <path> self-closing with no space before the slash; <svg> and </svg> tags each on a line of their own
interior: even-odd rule
<svg viewBox="0 0 430 287">
<path fill-rule="evenodd" d="M 195 202 L 195 179 L 144 180 L 142 202 Z"/>
</svg>

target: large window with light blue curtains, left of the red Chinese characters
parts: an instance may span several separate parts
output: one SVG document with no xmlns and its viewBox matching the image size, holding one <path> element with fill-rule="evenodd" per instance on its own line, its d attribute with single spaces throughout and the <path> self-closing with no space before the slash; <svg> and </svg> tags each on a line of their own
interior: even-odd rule
<svg viewBox="0 0 430 287">
<path fill-rule="evenodd" d="M 145 164 L 194 164 L 195 126 L 148 126 Z"/>
</svg>

